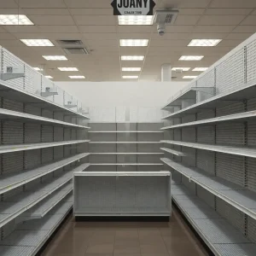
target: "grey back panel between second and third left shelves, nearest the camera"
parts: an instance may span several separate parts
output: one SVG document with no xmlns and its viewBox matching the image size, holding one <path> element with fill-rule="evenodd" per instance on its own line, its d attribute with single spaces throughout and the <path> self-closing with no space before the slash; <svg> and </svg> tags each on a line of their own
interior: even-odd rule
<svg viewBox="0 0 256 256">
<path fill-rule="evenodd" d="M 3 122 L 3 144 L 23 143 L 23 124 L 14 121 Z"/>
</svg>

